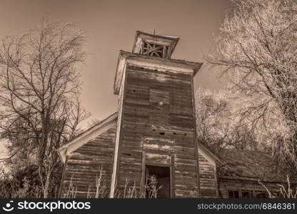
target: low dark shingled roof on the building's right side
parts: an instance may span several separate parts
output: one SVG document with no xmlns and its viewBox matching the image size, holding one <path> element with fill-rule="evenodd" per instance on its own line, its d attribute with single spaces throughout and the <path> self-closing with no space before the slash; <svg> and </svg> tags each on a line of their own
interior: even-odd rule
<svg viewBox="0 0 297 214">
<path fill-rule="evenodd" d="M 271 153 L 230 148 L 219 148 L 216 153 L 225 162 L 218 166 L 218 178 L 266 182 L 286 180 L 284 167 L 273 160 Z"/>
</svg>

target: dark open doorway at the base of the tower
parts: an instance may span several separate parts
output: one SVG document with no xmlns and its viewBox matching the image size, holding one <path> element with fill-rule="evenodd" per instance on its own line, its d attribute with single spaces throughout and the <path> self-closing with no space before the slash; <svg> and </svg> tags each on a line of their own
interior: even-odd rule
<svg viewBox="0 0 297 214">
<path fill-rule="evenodd" d="M 146 198 L 170 198 L 170 168 L 146 165 Z"/>
</svg>

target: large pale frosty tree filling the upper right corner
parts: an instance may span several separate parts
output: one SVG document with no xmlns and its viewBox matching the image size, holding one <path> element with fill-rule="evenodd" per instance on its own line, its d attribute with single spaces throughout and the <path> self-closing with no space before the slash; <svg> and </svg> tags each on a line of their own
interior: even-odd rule
<svg viewBox="0 0 297 214">
<path fill-rule="evenodd" d="M 273 121 L 273 146 L 279 157 L 297 163 L 297 1 L 234 1 L 206 59 L 228 76 L 243 96 L 241 111 L 253 128 Z M 268 116 L 273 118 L 268 118 Z M 272 126 L 270 126 L 271 128 Z"/>
</svg>

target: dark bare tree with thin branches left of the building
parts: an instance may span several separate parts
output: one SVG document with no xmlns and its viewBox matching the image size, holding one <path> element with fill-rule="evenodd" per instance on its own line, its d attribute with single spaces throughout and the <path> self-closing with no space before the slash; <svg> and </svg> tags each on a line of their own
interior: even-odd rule
<svg viewBox="0 0 297 214">
<path fill-rule="evenodd" d="M 2 136 L 29 149 L 48 196 L 58 162 L 55 149 L 72 138 L 88 116 L 79 102 L 84 32 L 72 24 L 46 23 L 0 46 Z"/>
</svg>

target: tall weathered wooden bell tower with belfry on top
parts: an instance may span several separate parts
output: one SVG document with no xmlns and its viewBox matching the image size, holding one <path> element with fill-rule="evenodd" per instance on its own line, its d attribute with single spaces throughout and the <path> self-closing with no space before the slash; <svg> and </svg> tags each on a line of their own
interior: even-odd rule
<svg viewBox="0 0 297 214">
<path fill-rule="evenodd" d="M 147 174 L 158 198 L 198 198 L 198 151 L 193 76 L 202 63 L 171 59 L 178 38 L 137 31 L 132 52 L 120 51 L 119 94 L 111 195 Z"/>
</svg>

